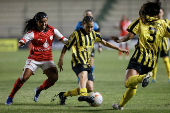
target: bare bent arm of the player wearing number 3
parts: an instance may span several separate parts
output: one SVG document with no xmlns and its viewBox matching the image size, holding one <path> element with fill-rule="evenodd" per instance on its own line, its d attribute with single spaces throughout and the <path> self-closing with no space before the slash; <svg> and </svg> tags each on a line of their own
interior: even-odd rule
<svg viewBox="0 0 170 113">
<path fill-rule="evenodd" d="M 120 42 L 126 42 L 126 41 L 130 40 L 130 39 L 132 39 L 134 36 L 135 36 L 134 33 L 129 32 L 127 35 L 125 35 L 125 36 L 124 36 L 123 38 L 121 38 L 121 39 L 119 39 L 117 36 L 110 36 L 110 38 L 111 38 L 112 40 L 114 40 L 115 42 L 120 43 Z"/>
</svg>

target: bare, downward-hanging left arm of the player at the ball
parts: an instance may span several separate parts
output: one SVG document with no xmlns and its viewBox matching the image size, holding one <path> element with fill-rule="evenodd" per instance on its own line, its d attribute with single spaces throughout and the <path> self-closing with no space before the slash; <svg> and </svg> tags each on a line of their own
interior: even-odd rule
<svg viewBox="0 0 170 113">
<path fill-rule="evenodd" d="M 65 55 L 67 51 L 67 48 L 66 46 L 63 47 L 62 51 L 61 51 L 61 55 L 60 55 L 60 58 L 59 58 L 59 61 L 58 61 L 58 68 L 60 68 L 60 72 L 63 71 L 63 57 Z"/>
</svg>

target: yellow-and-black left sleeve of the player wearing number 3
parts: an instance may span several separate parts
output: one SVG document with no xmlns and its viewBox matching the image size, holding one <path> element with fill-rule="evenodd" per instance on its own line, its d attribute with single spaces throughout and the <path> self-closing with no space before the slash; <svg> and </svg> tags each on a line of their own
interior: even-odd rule
<svg viewBox="0 0 170 113">
<path fill-rule="evenodd" d="M 137 20 L 132 22 L 128 26 L 127 31 L 133 33 L 134 35 L 138 34 L 138 32 L 139 32 L 139 21 L 140 21 L 140 19 L 138 18 Z"/>
</svg>

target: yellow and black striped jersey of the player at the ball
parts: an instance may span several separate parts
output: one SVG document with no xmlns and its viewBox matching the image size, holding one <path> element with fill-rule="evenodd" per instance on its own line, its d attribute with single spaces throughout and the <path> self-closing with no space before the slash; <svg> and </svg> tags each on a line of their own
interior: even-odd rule
<svg viewBox="0 0 170 113">
<path fill-rule="evenodd" d="M 72 48 L 72 67 L 77 64 L 90 66 L 91 52 L 95 42 L 102 41 L 99 33 L 92 30 L 86 33 L 83 28 L 74 31 L 65 44 L 67 49 Z"/>
</svg>

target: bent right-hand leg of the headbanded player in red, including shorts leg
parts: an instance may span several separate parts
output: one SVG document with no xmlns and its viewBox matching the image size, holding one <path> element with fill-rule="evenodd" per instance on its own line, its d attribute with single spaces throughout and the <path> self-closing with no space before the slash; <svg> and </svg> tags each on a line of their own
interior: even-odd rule
<svg viewBox="0 0 170 113">
<path fill-rule="evenodd" d="M 33 97 L 33 100 L 35 102 L 38 101 L 39 94 L 41 93 L 42 90 L 46 90 L 49 87 L 53 86 L 55 82 L 58 80 L 58 71 L 53 61 L 44 62 L 41 69 L 43 70 L 44 74 L 46 74 L 48 79 L 46 79 L 42 85 L 35 88 L 34 90 L 35 95 Z"/>
</svg>

